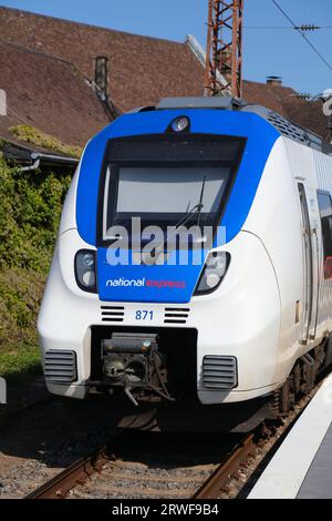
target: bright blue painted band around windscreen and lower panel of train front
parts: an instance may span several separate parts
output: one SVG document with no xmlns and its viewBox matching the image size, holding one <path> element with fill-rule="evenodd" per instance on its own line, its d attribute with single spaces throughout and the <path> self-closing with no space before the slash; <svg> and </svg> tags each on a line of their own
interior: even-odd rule
<svg viewBox="0 0 332 521">
<path fill-rule="evenodd" d="M 164 133 L 178 115 L 190 118 L 191 133 L 247 137 L 242 161 L 220 223 L 226 228 L 226 242 L 240 232 L 250 212 L 266 162 L 280 134 L 267 121 L 252 113 L 167 110 L 125 114 L 87 144 L 82 157 L 76 201 L 77 231 L 86 243 L 93 246 L 96 244 L 98 181 L 107 141 L 112 137 Z M 110 302 L 187 303 L 201 267 L 203 263 L 195 266 L 110 266 L 106 251 L 98 248 L 100 298 Z M 127 280 L 132 280 L 132 284 Z M 135 285 L 135 280 L 144 282 Z M 159 285 L 156 285 L 158 280 Z M 176 282 L 183 284 L 176 285 Z"/>
</svg>

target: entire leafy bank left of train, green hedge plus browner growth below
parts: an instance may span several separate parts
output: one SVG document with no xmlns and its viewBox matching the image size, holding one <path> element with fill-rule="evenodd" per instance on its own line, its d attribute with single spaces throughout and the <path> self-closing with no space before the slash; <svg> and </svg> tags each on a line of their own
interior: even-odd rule
<svg viewBox="0 0 332 521">
<path fill-rule="evenodd" d="M 39 367 L 35 318 L 70 182 L 0 157 L 0 375 Z"/>
</svg>

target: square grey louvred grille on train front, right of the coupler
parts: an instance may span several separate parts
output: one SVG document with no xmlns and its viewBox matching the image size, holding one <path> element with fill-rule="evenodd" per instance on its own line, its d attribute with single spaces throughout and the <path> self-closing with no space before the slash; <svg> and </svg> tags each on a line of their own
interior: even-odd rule
<svg viewBox="0 0 332 521">
<path fill-rule="evenodd" d="M 203 385 L 208 389 L 237 387 L 237 359 L 231 356 L 205 356 L 203 359 Z"/>
</svg>

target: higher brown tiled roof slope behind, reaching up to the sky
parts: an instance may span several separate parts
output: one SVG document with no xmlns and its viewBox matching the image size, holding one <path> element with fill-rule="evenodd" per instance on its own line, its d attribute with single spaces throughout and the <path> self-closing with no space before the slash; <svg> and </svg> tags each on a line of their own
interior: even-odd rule
<svg viewBox="0 0 332 521">
<path fill-rule="evenodd" d="M 186 43 L 0 8 L 1 40 L 68 60 L 93 79 L 93 59 L 110 58 L 110 94 L 121 111 L 166 95 L 201 95 L 204 70 Z"/>
</svg>

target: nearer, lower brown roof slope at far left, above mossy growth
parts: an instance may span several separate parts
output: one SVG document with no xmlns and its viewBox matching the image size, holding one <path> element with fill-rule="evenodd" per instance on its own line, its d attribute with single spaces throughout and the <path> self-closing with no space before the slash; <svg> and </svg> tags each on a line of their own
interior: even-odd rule
<svg viewBox="0 0 332 521">
<path fill-rule="evenodd" d="M 0 42 L 0 88 L 8 106 L 0 118 L 2 137 L 14 139 L 9 127 L 27 124 L 79 145 L 108 122 L 74 65 L 21 45 Z"/>
</svg>

